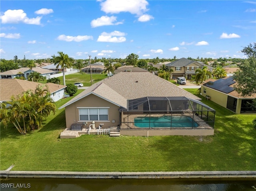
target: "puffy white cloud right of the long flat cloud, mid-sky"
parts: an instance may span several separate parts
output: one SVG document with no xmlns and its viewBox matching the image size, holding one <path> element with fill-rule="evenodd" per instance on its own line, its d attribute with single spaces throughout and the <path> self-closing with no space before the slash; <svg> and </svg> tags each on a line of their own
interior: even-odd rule
<svg viewBox="0 0 256 191">
<path fill-rule="evenodd" d="M 97 42 L 124 42 L 126 41 L 126 38 L 124 37 L 125 33 L 120 31 L 113 31 L 111 33 L 103 32 L 101 35 L 99 35 Z M 119 37 L 116 37 L 119 36 Z"/>
</svg>

